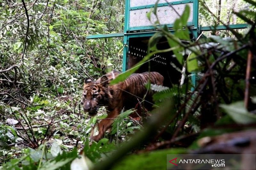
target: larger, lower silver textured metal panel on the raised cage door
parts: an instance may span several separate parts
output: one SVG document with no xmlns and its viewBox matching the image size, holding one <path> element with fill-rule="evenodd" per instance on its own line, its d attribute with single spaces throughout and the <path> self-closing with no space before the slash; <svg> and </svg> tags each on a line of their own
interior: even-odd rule
<svg viewBox="0 0 256 170">
<path fill-rule="evenodd" d="M 178 4 L 172 5 L 172 7 L 181 15 L 185 9 L 186 4 Z M 188 22 L 193 21 L 193 3 L 188 3 L 190 7 L 190 15 L 188 18 Z M 129 18 L 129 27 L 137 27 L 137 26 L 152 26 L 150 21 L 148 20 L 146 13 L 150 11 L 150 8 L 132 10 L 130 11 Z M 157 16 L 160 22 L 160 25 L 173 24 L 175 19 L 179 18 L 178 15 L 171 7 L 162 6 L 157 8 Z M 156 21 L 156 16 L 152 13 L 151 22 L 154 23 Z"/>
</svg>

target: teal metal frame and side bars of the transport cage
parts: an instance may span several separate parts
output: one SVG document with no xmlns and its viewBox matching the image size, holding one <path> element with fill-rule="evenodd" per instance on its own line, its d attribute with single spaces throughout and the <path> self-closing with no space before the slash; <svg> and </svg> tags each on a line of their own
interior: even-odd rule
<svg viewBox="0 0 256 170">
<path fill-rule="evenodd" d="M 193 21 L 192 23 L 187 23 L 189 26 L 189 31 L 193 35 L 193 38 L 196 40 L 202 31 L 213 31 L 213 30 L 227 30 L 231 29 L 244 29 L 248 27 L 248 24 L 233 24 L 233 25 L 219 25 L 219 26 L 198 26 L 199 18 L 199 0 L 178 0 L 170 3 L 161 3 L 157 4 L 157 7 L 176 5 L 176 4 L 188 4 L 193 3 Z M 154 26 L 142 26 L 142 27 L 129 27 L 129 12 L 138 9 L 150 9 L 154 8 L 155 4 L 130 7 L 130 0 L 125 0 L 125 12 L 124 12 L 124 32 L 123 33 L 109 33 L 109 34 L 96 34 L 88 35 L 86 39 L 98 39 L 98 38 L 113 38 L 113 37 L 123 37 L 123 69 L 126 71 L 128 67 L 128 47 L 129 40 L 131 38 L 139 37 L 151 37 L 154 33 L 157 32 Z M 161 26 L 161 25 L 160 25 Z M 162 25 L 163 26 L 163 25 Z M 172 29 L 173 24 L 167 25 L 169 31 L 173 33 L 175 30 Z M 191 73 L 192 85 L 195 87 L 197 82 L 197 73 Z M 194 88 L 191 89 L 192 91 Z"/>
</svg>

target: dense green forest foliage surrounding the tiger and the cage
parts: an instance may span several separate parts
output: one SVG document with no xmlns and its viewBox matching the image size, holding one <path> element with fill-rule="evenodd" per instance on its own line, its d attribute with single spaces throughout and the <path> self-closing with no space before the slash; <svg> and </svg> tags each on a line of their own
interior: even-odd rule
<svg viewBox="0 0 256 170">
<path fill-rule="evenodd" d="M 121 70 L 122 57 L 116 54 L 120 54 L 123 44 L 120 38 L 87 40 L 86 35 L 123 32 L 124 11 L 120 10 L 120 7 L 124 6 L 124 1 L 57 0 L 48 2 L 44 0 L 35 4 L 34 2 L 26 1 L 30 26 L 24 58 L 22 58 L 22 52 L 25 47 L 26 32 L 24 30 L 27 28 L 27 18 L 22 14 L 23 6 L 20 1 L 14 1 L 13 4 L 5 1 L 0 6 L 0 49 L 2 51 L 0 70 L 18 65 L 0 74 L 0 118 L 3 119 L 0 124 L 0 163 L 4 163 L 4 168 L 70 169 L 72 162 L 80 164 L 79 161 L 77 163 L 74 160 L 78 160 L 77 154 L 82 148 L 84 148 L 84 155 L 80 161 L 91 168 L 93 165 L 98 165 L 97 163 L 101 160 L 112 159 L 112 162 L 117 162 L 121 156 L 134 150 L 143 150 L 146 147 L 157 149 L 157 146 L 165 142 L 166 147 L 182 146 L 180 139 L 182 137 L 186 139 L 187 135 L 194 132 L 199 134 L 196 138 L 198 140 L 202 137 L 236 130 L 203 129 L 202 124 L 205 122 L 202 117 L 205 115 L 206 117 L 215 116 L 214 118 L 217 117 L 216 113 L 222 115 L 218 120 L 216 118 L 212 121 L 215 122 L 214 126 L 236 124 L 246 126 L 256 122 L 255 115 L 251 113 L 254 108 L 247 110 L 244 102 L 239 101 L 244 98 L 246 89 L 244 77 L 247 69 L 247 48 L 254 49 L 255 28 L 252 27 L 254 30 L 250 30 L 244 36 L 228 30 L 226 34 L 229 35 L 228 32 L 234 34 L 229 38 L 223 38 L 225 34 L 220 33 L 209 39 L 191 41 L 190 28 L 187 26 L 190 9 L 186 5 L 180 18 L 174 22 L 173 34 L 169 32 L 167 26 L 159 26 L 159 21 L 152 23 L 159 32 L 149 39 L 148 54 L 132 69 L 111 81 L 111 85 L 124 81 L 153 55 L 166 52 L 171 52 L 170 54 L 173 52 L 174 55 L 170 57 L 177 59 L 178 64 L 175 68 L 186 67 L 186 71 L 182 73 L 185 83 L 172 85 L 170 88 L 150 86 L 151 90 L 156 92 L 153 100 L 155 105 L 160 107 L 160 111 L 153 111 L 155 115 L 150 119 L 149 125 L 137 137 L 131 138 L 129 133 L 139 129 L 141 122 L 130 118 L 129 115 L 134 110 L 128 110 L 114 120 L 109 134 L 113 137 L 111 141 L 103 138 L 98 143 L 90 143 L 88 137 L 92 126 L 106 118 L 106 112 L 100 109 L 98 115 L 92 118 L 83 114 L 80 104 L 83 80 L 86 77 L 98 78 L 109 70 Z M 152 15 L 157 15 L 157 2 L 146 14 L 149 19 Z M 208 6 L 215 6 L 215 2 L 209 0 L 205 2 L 200 1 L 200 6 L 204 7 L 199 10 L 200 24 L 216 25 L 216 17 L 207 9 Z M 247 3 L 239 2 L 239 5 L 242 4 L 242 11 L 234 11 L 228 16 L 229 20 L 223 13 L 226 14 L 231 7 L 222 8 L 220 19 L 228 23 L 235 22 L 238 17 L 237 23 L 246 22 L 254 25 L 255 2 L 251 0 L 245 0 L 245 2 Z M 225 1 L 224 5 L 228 5 L 227 3 Z M 251 6 L 248 6 L 248 3 Z M 232 19 L 231 16 L 233 16 Z M 157 49 L 156 44 L 162 38 L 167 39 L 170 48 Z M 248 47 L 234 52 L 244 44 L 248 44 Z M 227 55 L 231 53 L 233 54 Z M 227 56 L 220 60 L 225 55 Z M 221 62 L 217 62 L 218 60 Z M 213 65 L 215 62 L 217 64 Z M 255 68 L 251 69 L 252 72 L 255 71 Z M 190 73 L 196 70 L 202 71 L 200 82 L 204 83 L 198 86 L 198 92 L 191 92 L 189 91 Z M 254 85 L 251 85 L 250 92 L 253 95 L 256 94 Z M 219 104 L 227 114 L 216 109 Z M 250 104 L 253 106 L 253 100 Z M 167 114 L 159 118 L 163 112 Z M 6 119 L 9 117 L 20 123 L 8 125 Z M 21 125 L 27 130 L 24 131 Z M 33 128 L 28 128 L 30 126 Z M 121 140 L 126 141 L 128 145 L 120 144 L 121 146 L 116 148 L 115 144 Z M 188 140 L 186 147 L 193 142 L 190 149 L 198 149 L 196 140 L 194 142 Z M 148 141 L 156 143 L 147 145 Z M 14 143 L 15 146 L 13 146 Z M 74 148 L 75 145 L 78 149 Z M 29 148 L 28 146 L 35 149 L 24 149 Z M 112 155 L 115 150 L 119 154 L 116 158 Z M 167 153 L 177 154 L 187 151 L 187 149 L 164 149 L 130 154 L 114 169 L 164 169 Z"/>
</svg>

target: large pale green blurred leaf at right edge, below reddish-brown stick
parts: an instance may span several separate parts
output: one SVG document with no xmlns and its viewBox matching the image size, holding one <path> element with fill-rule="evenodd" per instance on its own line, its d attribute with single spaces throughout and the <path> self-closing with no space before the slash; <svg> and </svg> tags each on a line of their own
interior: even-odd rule
<svg viewBox="0 0 256 170">
<path fill-rule="evenodd" d="M 230 105 L 221 104 L 220 107 L 222 107 L 236 123 L 256 123 L 256 115 L 253 115 L 246 110 L 243 101 L 238 101 Z"/>
</svg>

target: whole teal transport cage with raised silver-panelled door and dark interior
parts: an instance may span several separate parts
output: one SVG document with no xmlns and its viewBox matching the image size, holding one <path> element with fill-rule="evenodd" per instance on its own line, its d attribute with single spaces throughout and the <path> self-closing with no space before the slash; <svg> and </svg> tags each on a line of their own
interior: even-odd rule
<svg viewBox="0 0 256 170">
<path fill-rule="evenodd" d="M 124 49 L 123 49 L 123 71 L 132 68 L 138 63 L 148 50 L 149 38 L 157 32 L 156 28 L 152 26 L 152 23 L 156 21 L 156 16 L 151 13 L 151 20 L 147 18 L 147 13 L 154 8 L 157 0 L 125 0 L 125 13 L 124 13 L 124 33 L 110 33 L 110 34 L 98 34 L 86 36 L 87 39 L 96 38 L 111 38 L 111 37 L 123 37 Z M 199 26 L 198 25 L 198 0 L 159 0 L 157 4 L 157 16 L 159 19 L 159 26 L 166 25 L 170 32 L 172 30 L 173 23 L 183 13 L 185 6 L 190 8 L 190 15 L 188 17 L 188 23 L 190 30 L 190 38 L 196 40 L 202 31 L 211 30 L 226 30 L 227 27 L 221 26 Z M 247 24 L 234 24 L 228 25 L 229 28 L 242 29 L 246 28 Z M 201 38 L 204 38 L 201 35 Z M 158 49 L 169 48 L 166 40 L 160 40 L 157 44 Z M 143 64 L 137 73 L 148 71 L 157 71 L 164 76 L 164 85 L 171 87 L 172 84 L 179 83 L 181 73 L 174 68 L 177 61 L 172 57 L 172 52 L 161 53 L 151 57 L 154 60 Z M 174 63 L 174 64 L 170 64 Z M 179 64 L 178 64 L 179 65 Z M 180 66 L 178 69 L 182 69 Z M 196 86 L 197 74 L 194 72 L 191 74 L 192 84 Z M 194 90 L 193 88 L 191 90 Z"/>
</svg>

